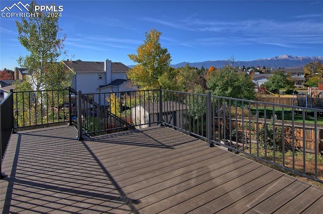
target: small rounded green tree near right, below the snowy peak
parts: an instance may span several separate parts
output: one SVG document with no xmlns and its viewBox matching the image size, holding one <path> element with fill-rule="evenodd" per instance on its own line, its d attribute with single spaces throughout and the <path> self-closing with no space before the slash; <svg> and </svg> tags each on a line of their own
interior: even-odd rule
<svg viewBox="0 0 323 214">
<path fill-rule="evenodd" d="M 265 82 L 262 86 L 266 87 L 267 90 L 276 92 L 280 89 L 286 88 L 286 89 L 293 89 L 294 81 L 291 78 L 290 74 L 286 74 L 283 71 L 275 71 L 273 73 L 273 76 L 268 78 L 268 81 Z"/>
</svg>

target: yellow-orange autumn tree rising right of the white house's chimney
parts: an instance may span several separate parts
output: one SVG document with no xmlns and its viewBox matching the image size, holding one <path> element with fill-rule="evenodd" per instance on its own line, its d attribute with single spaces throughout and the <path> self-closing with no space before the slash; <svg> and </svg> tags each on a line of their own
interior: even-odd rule
<svg viewBox="0 0 323 214">
<path fill-rule="evenodd" d="M 128 55 L 130 60 L 138 63 L 128 71 L 128 78 L 142 89 L 163 87 L 161 83 L 165 84 L 165 78 L 168 76 L 163 76 L 163 74 L 172 72 L 170 68 L 171 55 L 167 48 L 161 47 L 159 42 L 160 35 L 161 32 L 155 29 L 150 30 L 148 33 L 146 32 L 146 40 L 138 46 L 137 55 Z M 160 80 L 161 76 L 163 76 L 162 81 Z M 169 76 L 170 78 L 173 77 L 173 75 Z M 169 81 L 172 81 L 172 79 Z"/>
</svg>

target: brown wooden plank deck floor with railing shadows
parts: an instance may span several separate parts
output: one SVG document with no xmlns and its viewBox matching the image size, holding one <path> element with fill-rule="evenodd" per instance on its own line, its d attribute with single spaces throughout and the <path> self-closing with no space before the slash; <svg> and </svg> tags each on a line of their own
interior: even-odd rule
<svg viewBox="0 0 323 214">
<path fill-rule="evenodd" d="M 323 190 L 167 127 L 13 134 L 2 213 L 320 213 Z"/>
</svg>

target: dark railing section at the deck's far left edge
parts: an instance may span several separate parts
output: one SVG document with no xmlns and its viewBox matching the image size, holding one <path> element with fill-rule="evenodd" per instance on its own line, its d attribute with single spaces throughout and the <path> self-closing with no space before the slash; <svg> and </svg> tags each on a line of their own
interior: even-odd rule
<svg viewBox="0 0 323 214">
<path fill-rule="evenodd" d="M 2 174 L 2 161 L 9 143 L 11 133 L 14 129 L 13 121 L 13 92 L 11 91 L 8 96 L 0 103 L 0 173 L 1 178 L 4 178 Z"/>
</svg>

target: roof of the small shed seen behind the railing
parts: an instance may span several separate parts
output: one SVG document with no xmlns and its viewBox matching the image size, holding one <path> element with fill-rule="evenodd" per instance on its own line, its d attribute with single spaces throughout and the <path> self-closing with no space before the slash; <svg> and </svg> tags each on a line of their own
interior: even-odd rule
<svg viewBox="0 0 323 214">
<path fill-rule="evenodd" d="M 145 111 L 147 111 L 149 114 L 156 114 L 159 112 L 159 104 L 156 102 L 150 102 L 150 103 L 143 103 L 140 104 Z M 175 112 L 180 110 L 186 110 L 186 104 L 183 104 L 178 101 L 163 101 L 161 103 L 163 112 Z M 138 105 L 137 105 L 138 106 Z"/>
</svg>

